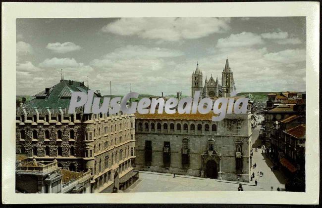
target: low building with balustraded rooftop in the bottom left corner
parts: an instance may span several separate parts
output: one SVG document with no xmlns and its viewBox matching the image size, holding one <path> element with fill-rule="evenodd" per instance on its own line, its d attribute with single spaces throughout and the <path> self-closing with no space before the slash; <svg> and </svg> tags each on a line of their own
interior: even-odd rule
<svg viewBox="0 0 322 208">
<path fill-rule="evenodd" d="M 91 193 L 91 171 L 75 172 L 53 162 L 19 161 L 16 167 L 17 193 Z"/>
</svg>

